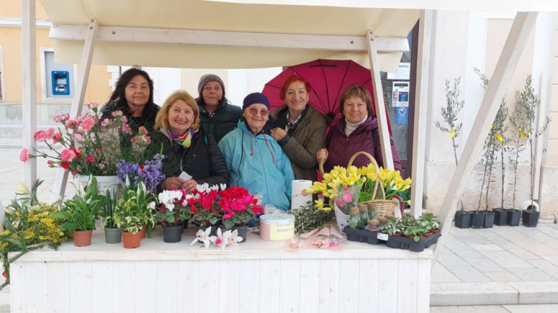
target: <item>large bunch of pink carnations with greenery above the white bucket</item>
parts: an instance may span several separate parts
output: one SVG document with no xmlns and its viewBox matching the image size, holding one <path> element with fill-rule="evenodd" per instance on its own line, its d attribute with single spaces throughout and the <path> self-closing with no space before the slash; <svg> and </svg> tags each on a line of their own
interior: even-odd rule
<svg viewBox="0 0 558 313">
<path fill-rule="evenodd" d="M 147 130 L 140 128 L 134 136 L 128 125 L 128 119 L 122 111 L 114 111 L 112 118 L 99 121 L 97 117 L 98 105 L 90 103 L 89 109 L 93 113 L 83 114 L 70 119 L 69 114 L 54 117 L 57 124 L 62 124 L 56 131 L 54 128 L 39 130 L 34 138 L 44 142 L 52 152 L 51 155 L 36 150 L 36 155 L 23 149 L 20 160 L 26 162 L 29 158 L 50 158 L 49 167 L 64 168 L 72 175 L 116 175 L 117 163 L 121 159 L 141 159 L 141 151 L 151 142 Z M 128 138 L 131 138 L 128 140 Z M 122 145 L 122 140 L 129 141 L 129 145 Z M 57 149 L 56 144 L 62 149 Z"/>
</svg>

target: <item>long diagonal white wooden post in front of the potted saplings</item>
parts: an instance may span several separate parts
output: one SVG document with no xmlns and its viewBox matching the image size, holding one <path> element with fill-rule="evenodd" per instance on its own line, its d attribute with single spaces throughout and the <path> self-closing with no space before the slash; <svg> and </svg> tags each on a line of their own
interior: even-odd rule
<svg viewBox="0 0 558 313">
<path fill-rule="evenodd" d="M 455 209 L 465 192 L 467 180 L 469 180 L 473 172 L 473 167 L 477 163 L 486 134 L 488 134 L 490 130 L 490 125 L 492 125 L 500 102 L 506 94 L 509 81 L 512 79 L 513 72 L 519 62 L 519 57 L 523 52 L 523 47 L 525 47 L 525 43 L 527 42 L 533 25 L 535 25 L 537 14 L 538 12 L 518 12 L 516 18 L 513 20 L 512 29 L 509 31 L 506 44 L 504 45 L 496 69 L 494 70 L 486 94 L 484 95 L 483 102 L 480 105 L 477 118 L 469 134 L 469 139 L 465 143 L 460 162 L 455 169 L 448 192 L 442 203 L 441 211 L 438 216 L 442 222 L 442 236 L 438 239 L 438 243 L 434 249 L 432 268 L 440 254 L 441 246 L 446 237 L 444 235 L 448 233 L 451 227 Z"/>
</svg>

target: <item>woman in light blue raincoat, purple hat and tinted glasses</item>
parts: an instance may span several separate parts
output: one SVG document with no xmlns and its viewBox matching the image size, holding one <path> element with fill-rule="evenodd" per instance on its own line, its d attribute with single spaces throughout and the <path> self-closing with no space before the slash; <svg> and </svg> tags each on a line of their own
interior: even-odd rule
<svg viewBox="0 0 558 313">
<path fill-rule="evenodd" d="M 237 128 L 219 141 L 230 185 L 263 194 L 263 206 L 270 203 L 287 211 L 291 206 L 291 183 L 295 179 L 291 162 L 277 140 L 264 133 L 270 118 L 270 101 L 259 92 L 244 98 Z"/>
</svg>

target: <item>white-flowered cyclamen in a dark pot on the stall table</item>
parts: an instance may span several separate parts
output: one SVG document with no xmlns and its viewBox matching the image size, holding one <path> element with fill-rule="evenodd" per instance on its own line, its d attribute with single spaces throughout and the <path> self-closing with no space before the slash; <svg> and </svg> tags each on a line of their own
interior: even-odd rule
<svg viewBox="0 0 558 313">
<path fill-rule="evenodd" d="M 182 223 L 188 221 L 191 211 L 184 209 L 184 190 L 164 190 L 158 195 L 158 202 L 150 203 L 152 209 L 157 213 L 155 217 L 161 221 L 163 227 L 163 241 L 167 243 L 180 242 L 182 240 Z"/>
</svg>

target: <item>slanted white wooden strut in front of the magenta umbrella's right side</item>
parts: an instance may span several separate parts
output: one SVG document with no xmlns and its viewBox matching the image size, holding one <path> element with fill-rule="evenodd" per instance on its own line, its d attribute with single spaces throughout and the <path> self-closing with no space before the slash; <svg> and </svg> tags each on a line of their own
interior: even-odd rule
<svg viewBox="0 0 558 313">
<path fill-rule="evenodd" d="M 382 158 L 384 168 L 393 169 L 393 155 L 391 154 L 391 143 L 389 142 L 388 121 L 386 119 L 386 100 L 383 97 L 382 79 L 380 77 L 380 66 L 378 62 L 378 50 L 376 38 L 373 31 L 366 33 L 368 41 L 368 60 L 370 61 L 370 74 L 372 75 L 372 87 L 374 89 L 374 102 L 376 102 L 376 118 L 378 119 L 378 130 L 380 143 L 382 144 Z M 396 210 L 397 211 L 397 210 Z"/>
</svg>

